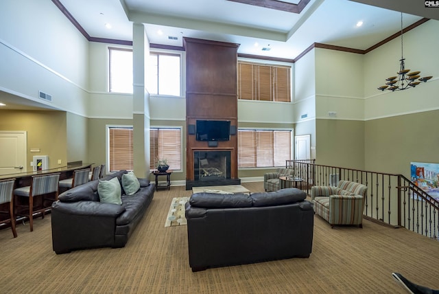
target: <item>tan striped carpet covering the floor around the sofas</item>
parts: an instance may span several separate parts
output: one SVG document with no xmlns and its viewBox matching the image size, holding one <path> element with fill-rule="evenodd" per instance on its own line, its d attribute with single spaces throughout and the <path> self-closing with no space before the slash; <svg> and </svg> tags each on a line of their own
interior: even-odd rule
<svg viewBox="0 0 439 294">
<path fill-rule="evenodd" d="M 244 183 L 263 192 L 263 183 Z M 403 294 L 392 271 L 439 289 L 439 242 L 406 229 L 365 220 L 363 229 L 334 227 L 314 216 L 310 258 L 273 260 L 192 273 L 187 226 L 164 227 L 174 197 L 184 186 L 159 190 L 124 248 L 73 251 L 51 247 L 51 215 L 34 231 L 19 224 L 18 238 L 0 230 L 0 293 L 178 294 Z M 294 224 L 292 224 L 294 225 Z"/>
</svg>

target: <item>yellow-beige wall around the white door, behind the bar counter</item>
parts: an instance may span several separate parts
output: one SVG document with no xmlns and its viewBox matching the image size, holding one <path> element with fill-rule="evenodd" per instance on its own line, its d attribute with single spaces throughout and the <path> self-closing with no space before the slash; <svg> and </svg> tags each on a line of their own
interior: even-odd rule
<svg viewBox="0 0 439 294">
<path fill-rule="evenodd" d="M 49 168 L 67 166 L 67 118 L 64 111 L 0 111 L 0 131 L 27 131 L 27 170 L 34 155 L 49 155 Z M 31 153 L 39 148 L 39 153 Z M 58 164 L 58 159 L 61 164 Z"/>
</svg>

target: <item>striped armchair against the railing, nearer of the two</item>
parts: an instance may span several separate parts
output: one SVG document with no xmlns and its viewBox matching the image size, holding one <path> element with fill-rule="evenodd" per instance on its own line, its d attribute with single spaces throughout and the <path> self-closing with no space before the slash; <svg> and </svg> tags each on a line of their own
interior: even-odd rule
<svg viewBox="0 0 439 294">
<path fill-rule="evenodd" d="M 339 181 L 337 187 L 311 187 L 314 212 L 333 225 L 363 227 L 363 212 L 368 188 L 351 181 Z"/>
</svg>

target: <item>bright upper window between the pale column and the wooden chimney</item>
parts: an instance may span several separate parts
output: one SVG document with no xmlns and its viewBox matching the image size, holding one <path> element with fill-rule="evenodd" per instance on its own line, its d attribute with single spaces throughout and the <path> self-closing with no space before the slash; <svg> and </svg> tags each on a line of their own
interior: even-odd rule
<svg viewBox="0 0 439 294">
<path fill-rule="evenodd" d="M 180 96 L 180 55 L 151 53 L 147 65 L 150 94 Z"/>
</svg>

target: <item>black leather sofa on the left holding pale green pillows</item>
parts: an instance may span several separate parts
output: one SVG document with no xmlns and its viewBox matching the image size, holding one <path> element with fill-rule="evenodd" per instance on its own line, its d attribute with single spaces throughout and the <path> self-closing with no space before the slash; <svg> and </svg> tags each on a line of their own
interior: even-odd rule
<svg viewBox="0 0 439 294">
<path fill-rule="evenodd" d="M 117 177 L 120 183 L 124 173 L 121 170 L 109 174 L 101 181 Z M 99 202 L 99 180 L 60 194 L 51 207 L 54 251 L 60 254 L 77 249 L 124 247 L 154 197 L 154 183 L 148 179 L 139 182 L 135 194 L 126 195 L 122 189 L 121 205 Z"/>
</svg>

